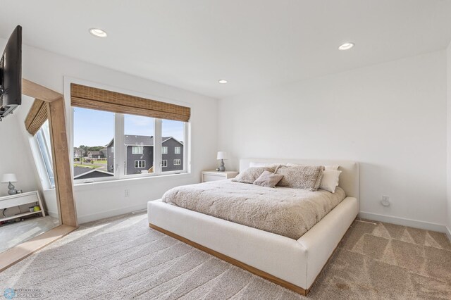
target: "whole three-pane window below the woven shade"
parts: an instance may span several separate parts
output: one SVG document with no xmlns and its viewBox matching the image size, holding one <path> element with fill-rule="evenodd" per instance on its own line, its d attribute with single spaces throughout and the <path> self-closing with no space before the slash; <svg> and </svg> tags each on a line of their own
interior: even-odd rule
<svg viewBox="0 0 451 300">
<path fill-rule="evenodd" d="M 185 136 L 184 122 L 73 108 L 75 184 L 185 172 Z"/>
</svg>

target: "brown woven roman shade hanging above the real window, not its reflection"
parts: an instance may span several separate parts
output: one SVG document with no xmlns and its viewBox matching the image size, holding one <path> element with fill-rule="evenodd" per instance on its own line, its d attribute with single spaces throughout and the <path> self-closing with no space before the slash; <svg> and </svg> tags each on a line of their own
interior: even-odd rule
<svg viewBox="0 0 451 300">
<path fill-rule="evenodd" d="M 70 84 L 70 105 L 82 108 L 92 108 L 112 113 L 128 113 L 146 117 L 177 120 L 190 120 L 191 108 L 168 104 L 151 99 L 130 96 L 118 92 Z"/>
</svg>

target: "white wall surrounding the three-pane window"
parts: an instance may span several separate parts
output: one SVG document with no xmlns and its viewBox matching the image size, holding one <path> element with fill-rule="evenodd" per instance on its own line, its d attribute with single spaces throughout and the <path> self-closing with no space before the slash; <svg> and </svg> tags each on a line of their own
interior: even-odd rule
<svg viewBox="0 0 451 300">
<path fill-rule="evenodd" d="M 5 43 L 6 40 L 0 39 L 1 49 Z M 144 209 L 147 201 L 159 199 L 171 187 L 200 182 L 201 171 L 214 168 L 216 165 L 216 135 L 218 132 L 216 99 L 77 61 L 42 49 L 23 47 L 24 78 L 63 93 L 64 76 L 185 102 L 190 104 L 192 109 L 190 120 L 192 173 L 75 186 L 75 201 L 80 223 Z M 69 99 L 66 99 L 66 106 L 68 103 Z M 130 196 L 127 198 L 124 196 L 125 189 L 130 189 Z"/>
</svg>

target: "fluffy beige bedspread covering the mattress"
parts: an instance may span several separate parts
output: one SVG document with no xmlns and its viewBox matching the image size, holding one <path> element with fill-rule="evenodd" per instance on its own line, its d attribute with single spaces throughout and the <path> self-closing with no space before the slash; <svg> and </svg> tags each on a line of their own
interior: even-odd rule
<svg viewBox="0 0 451 300">
<path fill-rule="evenodd" d="M 163 195 L 168 204 L 291 239 L 302 237 L 343 199 L 345 191 L 340 187 L 332 194 L 230 180 L 175 187 Z"/>
</svg>

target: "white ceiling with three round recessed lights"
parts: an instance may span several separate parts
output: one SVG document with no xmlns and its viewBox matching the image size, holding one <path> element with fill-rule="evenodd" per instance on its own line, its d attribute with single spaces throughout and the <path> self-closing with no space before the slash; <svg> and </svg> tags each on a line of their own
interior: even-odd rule
<svg viewBox="0 0 451 300">
<path fill-rule="evenodd" d="M 0 0 L 0 7 L 0 37 L 19 24 L 24 44 L 217 98 L 451 41 L 448 0 Z M 109 37 L 92 37 L 91 27 Z M 347 41 L 354 49 L 338 51 Z"/>
</svg>

